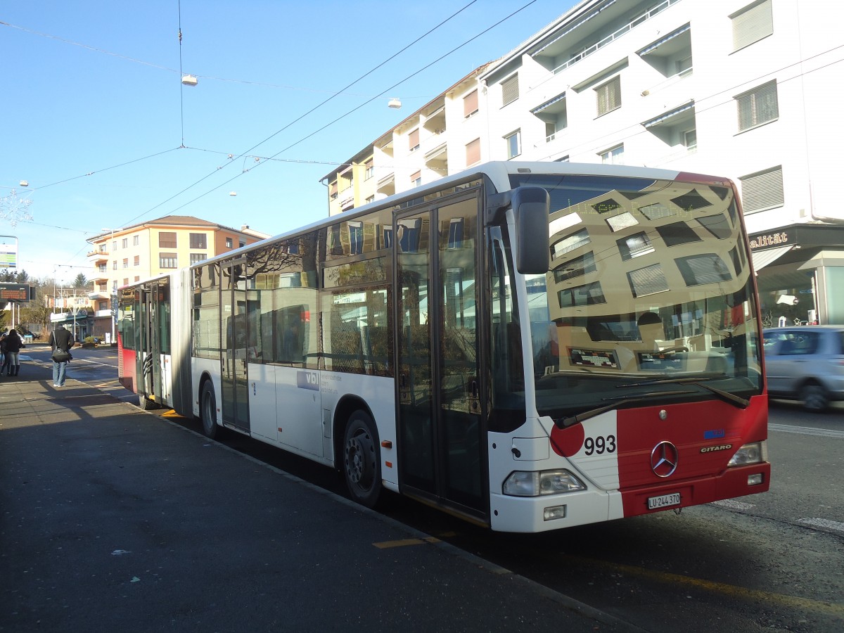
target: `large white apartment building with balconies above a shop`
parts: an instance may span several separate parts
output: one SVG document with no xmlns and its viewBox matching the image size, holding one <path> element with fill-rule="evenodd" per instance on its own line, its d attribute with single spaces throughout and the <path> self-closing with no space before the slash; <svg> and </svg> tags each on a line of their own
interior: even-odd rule
<svg viewBox="0 0 844 633">
<path fill-rule="evenodd" d="M 833 157 L 844 125 L 830 107 L 844 32 L 828 9 L 820 0 L 585 0 L 464 80 L 438 138 L 446 170 L 472 164 L 458 160 L 468 140 L 455 106 L 474 87 L 478 160 L 728 177 L 742 196 L 766 322 L 844 322 Z M 376 173 L 392 158 L 396 192 L 414 187 L 417 172 L 421 181 L 443 173 L 425 169 L 424 152 L 399 155 L 414 129 L 425 138 L 424 118 L 385 135 L 392 156 L 373 148 Z"/>
</svg>

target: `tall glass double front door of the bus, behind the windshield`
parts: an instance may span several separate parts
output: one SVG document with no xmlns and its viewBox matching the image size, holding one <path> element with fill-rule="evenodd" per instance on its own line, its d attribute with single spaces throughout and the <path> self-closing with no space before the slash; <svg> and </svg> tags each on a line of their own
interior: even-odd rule
<svg viewBox="0 0 844 633">
<path fill-rule="evenodd" d="M 399 484 L 485 520 L 478 199 L 398 216 Z"/>
</svg>

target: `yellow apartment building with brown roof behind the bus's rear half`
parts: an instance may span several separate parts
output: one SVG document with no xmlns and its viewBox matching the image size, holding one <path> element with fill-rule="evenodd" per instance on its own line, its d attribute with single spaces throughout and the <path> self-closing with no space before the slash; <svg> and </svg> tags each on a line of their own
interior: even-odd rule
<svg viewBox="0 0 844 633">
<path fill-rule="evenodd" d="M 88 240 L 92 246 L 88 260 L 93 267 L 89 280 L 94 284 L 89 294 L 94 317 L 90 334 L 113 333 L 111 300 L 120 286 L 184 268 L 267 237 L 248 225 L 232 229 L 190 215 L 167 215 L 120 229 L 104 229 Z"/>
</svg>

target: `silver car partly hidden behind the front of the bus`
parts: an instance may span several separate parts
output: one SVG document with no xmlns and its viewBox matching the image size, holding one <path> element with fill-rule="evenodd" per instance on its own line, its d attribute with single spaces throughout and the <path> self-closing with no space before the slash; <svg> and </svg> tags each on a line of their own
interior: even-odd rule
<svg viewBox="0 0 844 633">
<path fill-rule="evenodd" d="M 844 400 L 844 326 L 771 327 L 763 332 L 768 394 L 807 411 Z"/>
</svg>

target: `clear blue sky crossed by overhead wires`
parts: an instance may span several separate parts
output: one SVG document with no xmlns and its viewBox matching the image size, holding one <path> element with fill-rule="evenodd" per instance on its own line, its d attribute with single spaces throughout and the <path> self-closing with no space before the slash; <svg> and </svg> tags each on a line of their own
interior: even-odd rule
<svg viewBox="0 0 844 633">
<path fill-rule="evenodd" d="M 322 176 L 574 5 L 3 0 L 0 235 L 70 283 L 86 239 L 165 215 L 315 222 Z"/>
</svg>

